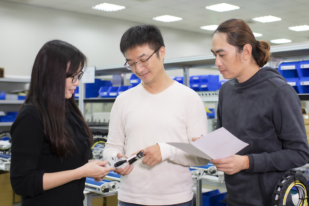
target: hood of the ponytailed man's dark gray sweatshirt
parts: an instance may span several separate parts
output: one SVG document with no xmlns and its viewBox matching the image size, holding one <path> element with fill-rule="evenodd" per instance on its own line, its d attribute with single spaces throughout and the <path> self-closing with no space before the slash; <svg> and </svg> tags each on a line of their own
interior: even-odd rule
<svg viewBox="0 0 309 206">
<path fill-rule="evenodd" d="M 284 79 L 279 71 L 276 69 L 273 69 L 271 67 L 263 67 L 259 71 L 257 71 L 250 79 L 248 79 L 245 82 L 239 83 L 236 78 L 234 78 L 232 81 L 234 82 L 235 88 L 237 90 L 247 89 L 250 88 L 260 82 L 265 81 L 266 79 L 270 78 L 280 78 L 286 82 L 286 79 Z"/>
</svg>

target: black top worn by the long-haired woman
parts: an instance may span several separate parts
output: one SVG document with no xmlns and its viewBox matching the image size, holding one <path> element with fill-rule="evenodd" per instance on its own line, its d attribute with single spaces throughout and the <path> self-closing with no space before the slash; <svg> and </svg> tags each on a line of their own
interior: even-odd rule
<svg viewBox="0 0 309 206">
<path fill-rule="evenodd" d="M 83 205 L 86 178 L 43 191 L 43 174 L 76 169 L 88 162 L 90 146 L 84 123 L 72 112 L 66 112 L 77 150 L 62 161 L 51 153 L 43 135 L 41 115 L 32 106 L 24 106 L 11 127 L 11 185 L 23 196 L 26 205 Z"/>
</svg>

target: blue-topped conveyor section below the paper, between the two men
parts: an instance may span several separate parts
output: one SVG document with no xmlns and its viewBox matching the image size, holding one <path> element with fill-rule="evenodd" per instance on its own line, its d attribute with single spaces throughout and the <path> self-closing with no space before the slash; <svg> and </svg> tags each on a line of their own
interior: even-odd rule
<svg viewBox="0 0 309 206">
<path fill-rule="evenodd" d="M 216 166 L 211 163 L 208 163 L 204 166 L 190 167 L 192 175 L 196 175 L 197 179 L 205 179 L 211 182 L 223 183 L 224 182 L 224 173 L 218 171 Z"/>
</svg>

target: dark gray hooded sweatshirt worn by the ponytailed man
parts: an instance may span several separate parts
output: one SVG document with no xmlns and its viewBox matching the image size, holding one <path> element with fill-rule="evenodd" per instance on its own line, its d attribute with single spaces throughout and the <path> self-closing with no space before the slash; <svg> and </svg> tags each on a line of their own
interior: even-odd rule
<svg viewBox="0 0 309 206">
<path fill-rule="evenodd" d="M 248 143 L 237 154 L 247 155 L 250 161 L 248 170 L 224 174 L 229 206 L 271 205 L 278 181 L 290 169 L 308 162 L 301 111 L 295 90 L 270 67 L 243 83 L 235 78 L 222 85 L 217 129 L 224 127 Z"/>
</svg>

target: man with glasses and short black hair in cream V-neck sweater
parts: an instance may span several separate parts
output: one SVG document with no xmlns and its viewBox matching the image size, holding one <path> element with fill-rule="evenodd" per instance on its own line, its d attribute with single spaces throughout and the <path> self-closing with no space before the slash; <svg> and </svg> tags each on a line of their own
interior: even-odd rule
<svg viewBox="0 0 309 206">
<path fill-rule="evenodd" d="M 165 142 L 192 143 L 208 132 L 205 107 L 192 89 L 165 72 L 165 47 L 157 26 L 139 25 L 122 36 L 124 66 L 142 83 L 121 93 L 112 107 L 103 157 L 130 157 L 144 150 L 142 161 L 115 170 L 121 174 L 119 206 L 192 206 L 189 166 L 208 160 Z"/>
</svg>

